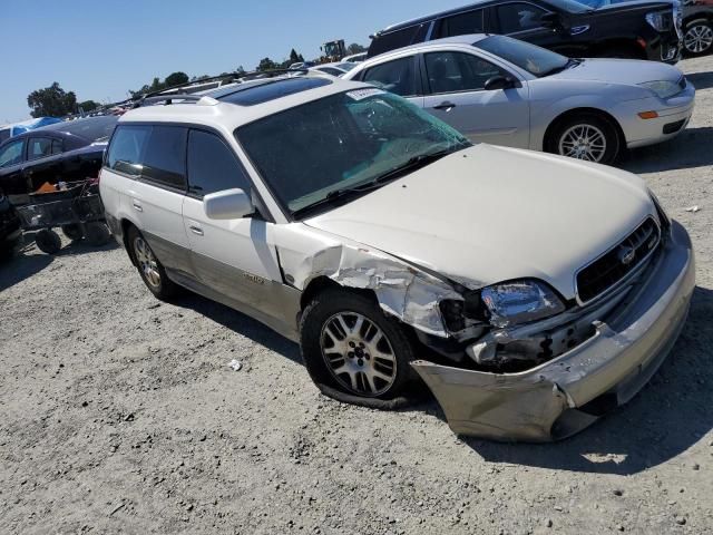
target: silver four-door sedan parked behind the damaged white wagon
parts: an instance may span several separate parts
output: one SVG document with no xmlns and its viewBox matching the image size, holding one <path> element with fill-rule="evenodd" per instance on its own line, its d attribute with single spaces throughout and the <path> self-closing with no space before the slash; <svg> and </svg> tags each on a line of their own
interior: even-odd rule
<svg viewBox="0 0 713 535">
<path fill-rule="evenodd" d="M 439 39 L 344 76 L 408 98 L 473 142 L 613 163 L 681 133 L 695 88 L 676 67 L 570 59 L 505 36 Z"/>
</svg>

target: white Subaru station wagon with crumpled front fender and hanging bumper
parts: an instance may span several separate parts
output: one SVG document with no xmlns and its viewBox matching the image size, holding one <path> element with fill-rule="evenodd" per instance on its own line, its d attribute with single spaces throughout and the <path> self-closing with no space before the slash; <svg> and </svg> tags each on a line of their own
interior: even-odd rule
<svg viewBox="0 0 713 535">
<path fill-rule="evenodd" d="M 158 299 L 188 289 L 300 343 L 318 387 L 452 430 L 551 440 L 632 398 L 695 285 L 635 175 L 473 145 L 399 96 L 315 75 L 124 115 L 100 175 Z"/>
</svg>

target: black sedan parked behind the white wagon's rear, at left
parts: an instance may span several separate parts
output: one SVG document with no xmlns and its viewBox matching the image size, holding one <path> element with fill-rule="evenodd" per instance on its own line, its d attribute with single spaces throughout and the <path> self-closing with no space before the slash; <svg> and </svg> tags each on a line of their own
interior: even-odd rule
<svg viewBox="0 0 713 535">
<path fill-rule="evenodd" d="M 96 177 L 118 117 L 89 117 L 26 132 L 0 145 L 0 188 L 25 204 L 42 184 Z"/>
</svg>

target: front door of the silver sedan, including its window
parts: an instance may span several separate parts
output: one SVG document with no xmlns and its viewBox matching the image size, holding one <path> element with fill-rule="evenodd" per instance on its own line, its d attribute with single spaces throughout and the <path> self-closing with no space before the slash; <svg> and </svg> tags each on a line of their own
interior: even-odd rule
<svg viewBox="0 0 713 535">
<path fill-rule="evenodd" d="M 527 82 L 510 89 L 486 90 L 496 76 L 515 75 L 480 56 L 442 50 L 423 55 L 424 108 L 473 142 L 529 146 Z"/>
</svg>

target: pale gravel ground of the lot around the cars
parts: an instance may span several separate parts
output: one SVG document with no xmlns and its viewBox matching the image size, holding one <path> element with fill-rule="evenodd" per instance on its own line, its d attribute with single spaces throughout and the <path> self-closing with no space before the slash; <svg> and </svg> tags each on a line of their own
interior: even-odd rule
<svg viewBox="0 0 713 535">
<path fill-rule="evenodd" d="M 29 243 L 0 266 L 0 531 L 712 533 L 713 57 L 681 66 L 692 124 L 622 165 L 691 232 L 699 288 L 626 407 L 558 444 L 461 440 L 433 401 L 322 397 L 296 346 L 198 296 L 159 304 L 116 246 Z"/>
</svg>

